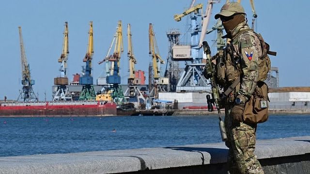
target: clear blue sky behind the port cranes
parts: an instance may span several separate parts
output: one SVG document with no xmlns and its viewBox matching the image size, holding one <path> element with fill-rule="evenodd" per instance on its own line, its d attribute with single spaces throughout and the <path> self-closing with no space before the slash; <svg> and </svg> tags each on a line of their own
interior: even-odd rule
<svg viewBox="0 0 310 174">
<path fill-rule="evenodd" d="M 214 4 L 209 29 L 216 23 L 214 15 L 225 1 Z M 95 84 L 96 79 L 105 74 L 104 64 L 98 65 L 96 62 L 107 55 L 117 22 L 122 20 L 124 53 L 121 76 L 122 84 L 126 84 L 127 24 L 131 24 L 133 49 L 138 61 L 136 70 L 143 70 L 148 76 L 148 64 L 151 62 L 148 54 L 149 23 L 153 24 L 159 53 L 166 60 L 169 46 L 166 32 L 180 29 L 184 33 L 188 29 L 186 17 L 175 22 L 173 15 L 183 13 L 190 3 L 191 0 L 1 0 L 0 100 L 4 96 L 8 100 L 16 100 L 22 88 L 18 26 L 22 28 L 31 77 L 35 80 L 33 89 L 38 93 L 39 100 L 44 100 L 45 93 L 47 100 L 51 100 L 54 78 L 60 76 L 58 58 L 62 52 L 65 21 L 69 27 L 69 81 L 73 79 L 72 74 L 80 73 L 81 66 L 85 65 L 82 59 L 88 44 L 89 22 L 93 21 Z M 205 11 L 207 0 L 196 0 L 197 3 L 202 3 Z M 255 30 L 270 44 L 270 50 L 278 52 L 277 57 L 270 58 L 272 66 L 279 67 L 279 86 L 310 86 L 310 58 L 307 52 L 310 1 L 254 0 L 254 3 L 258 14 Z M 242 0 L 241 4 L 250 22 L 252 13 L 249 0 Z M 205 37 L 209 44 L 215 39 L 215 32 Z"/>
</svg>

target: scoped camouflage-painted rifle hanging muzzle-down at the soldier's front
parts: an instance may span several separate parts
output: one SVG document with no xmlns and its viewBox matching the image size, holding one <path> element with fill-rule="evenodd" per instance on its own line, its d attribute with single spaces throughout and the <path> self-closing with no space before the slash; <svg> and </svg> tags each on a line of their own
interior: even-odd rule
<svg viewBox="0 0 310 174">
<path fill-rule="evenodd" d="M 204 54 L 206 54 L 206 56 L 207 56 L 207 63 L 205 65 L 206 77 L 207 77 L 207 79 L 210 80 L 211 89 L 212 89 L 212 99 L 211 99 L 209 94 L 206 96 L 207 97 L 207 103 L 208 103 L 208 111 L 209 112 L 213 111 L 213 105 L 215 105 L 217 107 L 217 113 L 218 113 L 218 119 L 219 119 L 219 123 L 218 123 L 219 124 L 219 130 L 221 132 L 222 141 L 226 141 L 227 140 L 227 134 L 226 134 L 225 125 L 224 125 L 224 121 L 222 120 L 220 106 L 219 106 L 219 102 L 220 102 L 219 90 L 218 90 L 218 86 L 215 82 L 215 69 L 213 68 L 211 56 L 210 56 L 211 50 L 210 50 L 210 47 L 206 41 L 203 41 L 202 45 L 203 45 Z"/>
</svg>

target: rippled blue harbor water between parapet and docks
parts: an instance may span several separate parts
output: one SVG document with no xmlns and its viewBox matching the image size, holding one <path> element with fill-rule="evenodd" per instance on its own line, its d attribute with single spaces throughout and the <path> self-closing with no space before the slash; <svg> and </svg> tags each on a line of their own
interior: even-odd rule
<svg viewBox="0 0 310 174">
<path fill-rule="evenodd" d="M 257 139 L 310 135 L 310 115 L 271 115 Z M 1 117 L 0 156 L 221 142 L 217 116 Z"/>
</svg>

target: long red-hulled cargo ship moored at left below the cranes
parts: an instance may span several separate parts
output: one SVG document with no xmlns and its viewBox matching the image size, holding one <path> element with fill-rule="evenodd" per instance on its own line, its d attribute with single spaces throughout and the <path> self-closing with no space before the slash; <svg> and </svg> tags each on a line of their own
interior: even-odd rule
<svg viewBox="0 0 310 174">
<path fill-rule="evenodd" d="M 1 102 L 0 116 L 116 116 L 114 102 Z"/>
</svg>

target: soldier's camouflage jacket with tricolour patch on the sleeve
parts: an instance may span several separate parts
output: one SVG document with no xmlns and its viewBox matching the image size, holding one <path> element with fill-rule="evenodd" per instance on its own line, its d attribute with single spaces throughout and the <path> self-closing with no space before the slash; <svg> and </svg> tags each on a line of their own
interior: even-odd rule
<svg viewBox="0 0 310 174">
<path fill-rule="evenodd" d="M 259 38 L 246 22 L 240 23 L 232 31 L 233 56 L 240 58 L 240 88 L 236 96 L 247 101 L 256 87 L 259 67 L 258 59 L 262 56 Z"/>
</svg>

